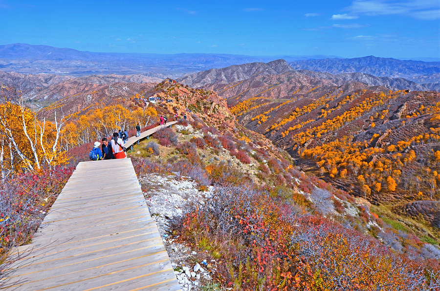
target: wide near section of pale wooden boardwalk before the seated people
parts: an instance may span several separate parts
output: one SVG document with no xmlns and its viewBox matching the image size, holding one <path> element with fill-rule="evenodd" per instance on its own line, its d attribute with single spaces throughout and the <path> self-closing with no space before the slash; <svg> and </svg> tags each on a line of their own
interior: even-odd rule
<svg viewBox="0 0 440 291">
<path fill-rule="evenodd" d="M 180 290 L 130 159 L 79 163 L 8 290 Z"/>
</svg>

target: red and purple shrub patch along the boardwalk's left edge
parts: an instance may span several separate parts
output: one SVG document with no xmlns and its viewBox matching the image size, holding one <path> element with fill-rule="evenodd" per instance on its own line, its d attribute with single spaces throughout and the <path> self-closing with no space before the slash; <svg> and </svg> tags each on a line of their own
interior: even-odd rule
<svg viewBox="0 0 440 291">
<path fill-rule="evenodd" d="M 30 241 L 73 170 L 57 166 L 0 182 L 0 255 Z"/>
</svg>

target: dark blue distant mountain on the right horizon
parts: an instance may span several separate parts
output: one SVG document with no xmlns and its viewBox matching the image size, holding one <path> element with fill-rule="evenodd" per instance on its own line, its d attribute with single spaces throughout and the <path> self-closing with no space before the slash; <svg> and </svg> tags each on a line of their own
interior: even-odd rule
<svg viewBox="0 0 440 291">
<path fill-rule="evenodd" d="M 402 61 L 374 56 L 353 59 L 323 59 L 289 62 L 296 70 L 331 74 L 365 73 L 377 77 L 405 78 L 416 83 L 440 83 L 440 62 Z M 424 82 L 422 79 L 430 79 Z M 438 90 L 438 89 L 437 89 Z"/>
</svg>

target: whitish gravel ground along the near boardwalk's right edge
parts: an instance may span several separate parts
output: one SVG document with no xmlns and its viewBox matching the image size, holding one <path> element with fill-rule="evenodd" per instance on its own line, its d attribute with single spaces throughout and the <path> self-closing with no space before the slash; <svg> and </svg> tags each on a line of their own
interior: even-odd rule
<svg viewBox="0 0 440 291">
<path fill-rule="evenodd" d="M 159 174 L 146 174 L 139 181 L 147 190 L 145 199 L 150 209 L 152 218 L 159 228 L 165 248 L 175 270 L 177 280 L 183 291 L 200 290 L 212 281 L 211 272 L 214 270 L 215 261 L 199 261 L 200 254 L 177 243 L 171 234 L 169 222 L 181 216 L 183 209 L 190 203 L 201 203 L 210 197 L 212 187 L 208 191 L 199 191 L 197 184 L 187 177 L 161 176 Z"/>
</svg>

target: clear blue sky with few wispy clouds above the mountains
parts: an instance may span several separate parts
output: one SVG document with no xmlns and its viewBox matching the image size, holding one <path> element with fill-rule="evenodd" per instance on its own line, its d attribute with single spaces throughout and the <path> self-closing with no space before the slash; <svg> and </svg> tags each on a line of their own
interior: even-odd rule
<svg viewBox="0 0 440 291">
<path fill-rule="evenodd" d="M 0 0 L 0 44 L 440 58 L 440 0 Z"/>
</svg>

